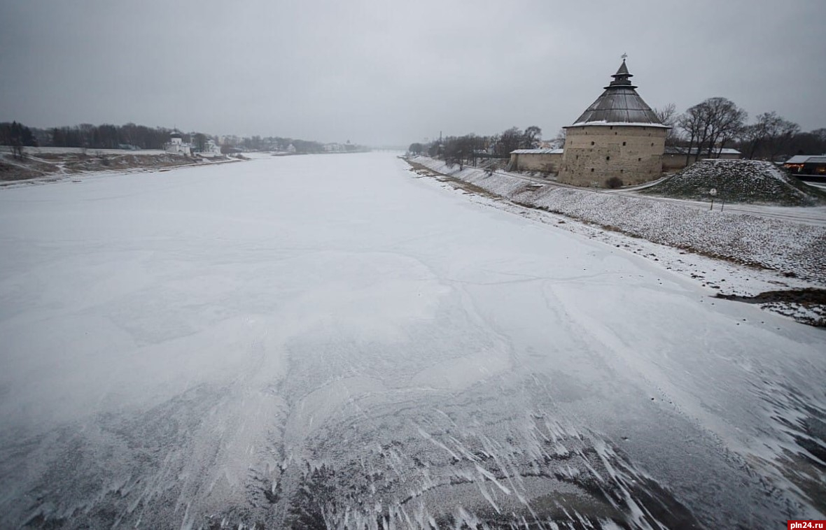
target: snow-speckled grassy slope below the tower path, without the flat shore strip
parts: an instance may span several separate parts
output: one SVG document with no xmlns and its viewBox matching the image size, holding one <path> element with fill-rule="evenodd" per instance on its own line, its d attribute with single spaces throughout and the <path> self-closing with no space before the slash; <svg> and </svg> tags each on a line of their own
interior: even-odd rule
<svg viewBox="0 0 826 530">
<path fill-rule="evenodd" d="M 448 168 L 440 160 L 420 158 L 415 162 L 525 206 L 568 215 L 654 243 L 826 284 L 826 225 L 810 220 L 795 222 L 771 214 L 759 215 L 759 210 L 710 211 L 693 203 L 648 201 L 638 196 L 526 184 L 507 174 L 488 175 L 476 168 L 458 172 L 458 167 Z"/>
</svg>

